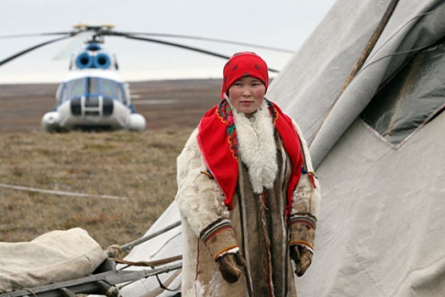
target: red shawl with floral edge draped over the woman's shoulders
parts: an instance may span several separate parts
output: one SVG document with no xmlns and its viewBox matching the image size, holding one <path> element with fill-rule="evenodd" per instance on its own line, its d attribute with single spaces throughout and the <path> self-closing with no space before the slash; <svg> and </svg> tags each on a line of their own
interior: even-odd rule
<svg viewBox="0 0 445 297">
<path fill-rule="evenodd" d="M 292 120 L 273 102 L 265 99 L 273 117 L 275 129 L 282 138 L 284 150 L 292 163 L 292 174 L 287 188 L 286 214 L 292 205 L 293 190 L 300 180 L 302 152 Z M 238 182 L 238 140 L 232 109 L 227 100 L 207 111 L 198 125 L 197 142 L 207 169 L 225 195 L 225 205 L 232 210 L 232 200 Z"/>
</svg>

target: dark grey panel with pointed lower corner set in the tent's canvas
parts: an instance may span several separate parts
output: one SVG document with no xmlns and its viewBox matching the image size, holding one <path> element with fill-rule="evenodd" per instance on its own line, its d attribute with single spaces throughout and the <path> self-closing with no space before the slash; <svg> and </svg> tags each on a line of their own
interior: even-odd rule
<svg viewBox="0 0 445 297">
<path fill-rule="evenodd" d="M 444 110 L 445 42 L 420 51 L 385 85 L 362 119 L 393 145 Z"/>
</svg>

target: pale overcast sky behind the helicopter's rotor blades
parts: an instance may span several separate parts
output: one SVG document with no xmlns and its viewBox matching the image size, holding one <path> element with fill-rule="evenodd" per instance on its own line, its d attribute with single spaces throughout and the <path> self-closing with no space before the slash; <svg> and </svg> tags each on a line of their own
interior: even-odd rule
<svg viewBox="0 0 445 297">
<path fill-rule="evenodd" d="M 335 0 L 1 0 L 0 36 L 71 31 L 74 24 L 113 24 L 116 31 L 196 35 L 296 51 Z M 0 39 L 0 61 L 54 37 Z M 282 69 L 292 54 L 213 42 L 166 39 L 231 56 L 253 50 Z M 54 59 L 68 42 L 36 49 L 0 66 L 0 83 L 58 82 L 69 58 Z M 225 61 L 193 51 L 108 37 L 123 79 L 220 78 Z"/>
</svg>

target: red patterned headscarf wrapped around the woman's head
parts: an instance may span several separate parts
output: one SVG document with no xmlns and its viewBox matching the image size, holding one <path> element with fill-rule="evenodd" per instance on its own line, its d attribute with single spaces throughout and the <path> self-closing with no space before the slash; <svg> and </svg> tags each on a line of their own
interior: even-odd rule
<svg viewBox="0 0 445 297">
<path fill-rule="evenodd" d="M 241 51 L 232 56 L 227 61 L 223 70 L 223 88 L 221 89 L 221 99 L 229 90 L 230 86 L 242 77 L 254 77 L 259 79 L 264 86 L 269 85 L 269 75 L 267 64 L 264 60 L 252 51 Z"/>
</svg>

